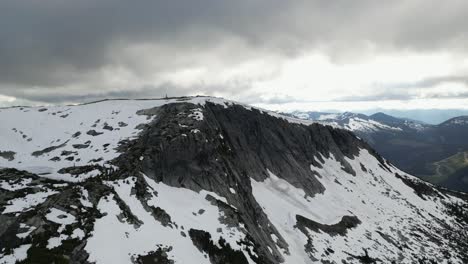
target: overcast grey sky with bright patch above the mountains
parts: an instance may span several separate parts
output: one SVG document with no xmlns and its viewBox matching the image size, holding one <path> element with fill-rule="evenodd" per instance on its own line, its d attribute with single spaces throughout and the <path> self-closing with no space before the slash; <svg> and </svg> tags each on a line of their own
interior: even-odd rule
<svg viewBox="0 0 468 264">
<path fill-rule="evenodd" d="M 468 108 L 468 1 L 2 0 L 0 105 Z"/>
</svg>

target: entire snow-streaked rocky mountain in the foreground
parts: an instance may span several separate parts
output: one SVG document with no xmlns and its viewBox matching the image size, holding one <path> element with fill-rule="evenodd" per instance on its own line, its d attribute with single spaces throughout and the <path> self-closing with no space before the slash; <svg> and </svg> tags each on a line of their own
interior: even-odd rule
<svg viewBox="0 0 468 264">
<path fill-rule="evenodd" d="M 466 263 L 467 197 L 210 97 L 0 110 L 0 263 Z"/>
</svg>

